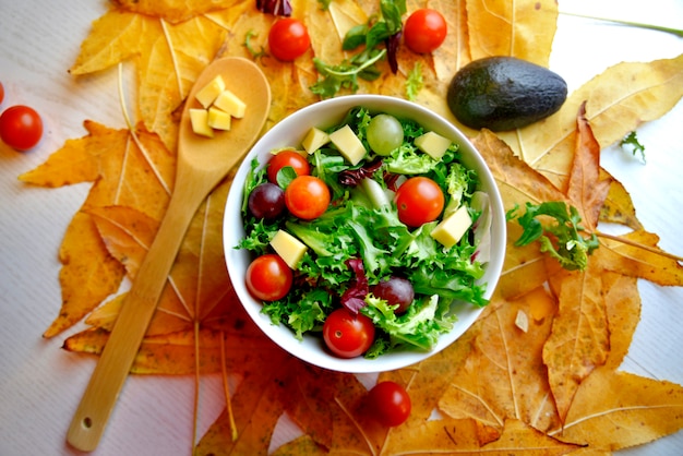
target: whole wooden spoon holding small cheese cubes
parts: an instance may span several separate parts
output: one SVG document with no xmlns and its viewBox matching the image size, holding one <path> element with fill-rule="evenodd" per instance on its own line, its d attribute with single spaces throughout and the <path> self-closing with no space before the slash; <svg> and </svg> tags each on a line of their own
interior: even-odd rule
<svg viewBox="0 0 683 456">
<path fill-rule="evenodd" d="M 189 109 L 200 107 L 196 92 L 217 74 L 247 104 L 247 111 L 242 119 L 233 119 L 231 130 L 208 139 L 192 131 Z M 194 213 L 259 137 L 269 108 L 267 80 L 249 60 L 230 57 L 216 60 L 194 83 L 180 120 L 178 169 L 168 209 L 67 434 L 67 441 L 77 449 L 91 452 L 97 447 Z"/>
</svg>

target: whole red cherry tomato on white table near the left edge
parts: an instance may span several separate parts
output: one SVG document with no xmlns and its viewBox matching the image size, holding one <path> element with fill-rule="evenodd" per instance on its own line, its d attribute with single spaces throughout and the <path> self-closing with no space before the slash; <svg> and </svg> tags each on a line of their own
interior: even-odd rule
<svg viewBox="0 0 683 456">
<path fill-rule="evenodd" d="M 0 139 L 17 151 L 27 151 L 43 136 L 43 120 L 28 106 L 12 106 L 0 116 Z"/>
</svg>

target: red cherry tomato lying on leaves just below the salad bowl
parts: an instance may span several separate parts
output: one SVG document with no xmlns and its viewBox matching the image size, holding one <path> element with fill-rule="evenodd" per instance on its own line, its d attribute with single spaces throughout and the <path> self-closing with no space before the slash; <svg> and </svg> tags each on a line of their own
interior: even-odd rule
<svg viewBox="0 0 683 456">
<path fill-rule="evenodd" d="M 412 407 L 408 392 L 398 383 L 380 382 L 368 392 L 367 409 L 373 418 L 386 427 L 404 423 Z"/>
</svg>

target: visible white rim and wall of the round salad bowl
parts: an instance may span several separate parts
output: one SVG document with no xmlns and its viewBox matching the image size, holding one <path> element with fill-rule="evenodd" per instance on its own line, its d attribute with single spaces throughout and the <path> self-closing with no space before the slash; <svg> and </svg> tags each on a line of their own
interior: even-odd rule
<svg viewBox="0 0 683 456">
<path fill-rule="evenodd" d="M 382 355 L 375 359 L 363 357 L 343 359 L 326 351 L 322 337 L 304 335 L 302 341 L 295 338 L 293 333 L 285 325 L 274 325 L 269 316 L 261 313 L 262 303 L 254 299 L 244 285 L 247 267 L 253 260 L 245 250 L 235 249 L 244 238 L 241 205 L 243 199 L 243 182 L 254 158 L 265 164 L 273 149 L 281 147 L 300 147 L 301 141 L 311 127 L 326 129 L 338 124 L 349 109 L 363 106 L 372 113 L 387 112 L 395 117 L 414 119 L 428 130 L 432 130 L 459 144 L 463 163 L 475 169 L 480 179 L 480 188 L 489 194 L 491 201 L 491 259 L 486 266 L 486 274 L 480 283 L 487 284 L 484 297 L 490 298 L 503 267 L 505 256 L 505 213 L 498 187 L 483 158 L 452 123 L 441 116 L 410 101 L 400 98 L 380 95 L 349 95 L 331 98 L 310 105 L 287 117 L 254 145 L 247 155 L 243 164 L 235 176 L 235 183 L 230 189 L 225 208 L 223 237 L 226 264 L 232 286 L 242 305 L 256 325 L 278 346 L 295 357 L 311 364 L 339 372 L 383 372 L 405 368 L 422 361 L 453 344 L 477 320 L 482 312 L 481 308 L 462 303 L 457 305 L 458 321 L 453 329 L 443 334 L 436 346 L 430 351 L 400 351 Z"/>
</svg>

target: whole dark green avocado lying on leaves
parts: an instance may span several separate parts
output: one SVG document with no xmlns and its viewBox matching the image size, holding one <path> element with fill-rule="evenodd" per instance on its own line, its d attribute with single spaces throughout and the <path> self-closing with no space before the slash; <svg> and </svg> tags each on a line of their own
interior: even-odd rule
<svg viewBox="0 0 683 456">
<path fill-rule="evenodd" d="M 554 113 L 566 94 L 566 82 L 547 68 L 496 56 L 463 67 L 453 76 L 446 99 L 465 125 L 505 131 Z"/>
</svg>

